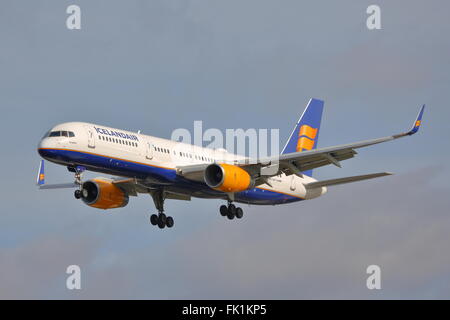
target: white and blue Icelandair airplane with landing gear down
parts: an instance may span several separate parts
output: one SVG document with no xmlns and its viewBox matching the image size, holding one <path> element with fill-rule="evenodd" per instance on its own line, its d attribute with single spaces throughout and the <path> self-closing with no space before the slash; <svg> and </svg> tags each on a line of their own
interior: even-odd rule
<svg viewBox="0 0 450 320">
<path fill-rule="evenodd" d="M 164 211 L 167 199 L 222 199 L 227 205 L 220 206 L 220 214 L 230 220 L 241 219 L 244 212 L 234 203 L 279 205 L 310 200 L 325 194 L 329 186 L 391 175 L 378 172 L 317 181 L 312 172 L 326 165 L 341 167 L 341 161 L 357 154 L 356 149 L 415 134 L 425 109 L 423 105 L 407 132 L 317 148 L 323 107 L 324 101 L 310 99 L 281 154 L 262 159 L 97 124 L 58 124 L 40 140 L 38 153 L 66 166 L 75 181 L 45 184 L 41 160 L 37 185 L 40 189 L 76 188 L 76 199 L 98 209 L 125 207 L 130 196 L 150 194 L 157 210 L 150 223 L 160 229 L 174 225 Z M 83 181 L 86 170 L 114 177 Z"/>
</svg>

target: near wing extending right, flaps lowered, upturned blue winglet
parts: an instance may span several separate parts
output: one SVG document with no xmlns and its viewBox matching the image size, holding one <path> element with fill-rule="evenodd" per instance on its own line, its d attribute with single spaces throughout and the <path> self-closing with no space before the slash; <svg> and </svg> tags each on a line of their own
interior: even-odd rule
<svg viewBox="0 0 450 320">
<path fill-rule="evenodd" d="M 314 149 L 310 151 L 287 153 L 260 159 L 258 161 L 244 159 L 241 161 L 235 161 L 233 164 L 245 169 L 250 175 L 257 178 L 257 184 L 266 183 L 267 181 L 265 177 L 275 176 L 282 172 L 286 175 L 296 174 L 302 176 L 303 171 L 329 164 L 341 167 L 340 161 L 353 158 L 357 154 L 356 149 L 415 134 L 419 130 L 422 122 L 424 109 L 425 105 L 423 105 L 420 109 L 412 128 L 404 133 L 338 146 Z M 208 165 L 209 164 L 182 166 L 177 168 L 177 172 L 187 179 L 203 181 L 203 171 Z M 272 169 L 275 168 L 275 170 L 267 170 L 266 173 L 265 169 L 270 169 L 271 167 Z"/>
</svg>

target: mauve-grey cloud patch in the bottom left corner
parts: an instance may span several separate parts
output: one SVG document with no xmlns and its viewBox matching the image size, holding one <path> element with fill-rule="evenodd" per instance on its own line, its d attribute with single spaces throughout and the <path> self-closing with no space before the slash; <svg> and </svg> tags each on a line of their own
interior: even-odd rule
<svg viewBox="0 0 450 320">
<path fill-rule="evenodd" d="M 89 265 L 98 238 L 70 238 L 61 233 L 34 238 L 17 247 L 0 249 L 0 299 L 46 299 L 66 289 L 69 265 Z"/>
</svg>

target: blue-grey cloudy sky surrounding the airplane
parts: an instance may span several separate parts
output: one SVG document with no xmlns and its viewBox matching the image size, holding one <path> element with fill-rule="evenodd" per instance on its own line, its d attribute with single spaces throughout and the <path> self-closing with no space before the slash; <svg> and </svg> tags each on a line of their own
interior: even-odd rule
<svg viewBox="0 0 450 320">
<path fill-rule="evenodd" d="M 381 8 L 381 30 L 366 9 Z M 81 30 L 66 8 L 81 8 Z M 0 3 L 2 299 L 448 299 L 448 1 L 4 0 Z M 403 132 L 317 179 L 395 175 L 284 206 L 150 196 L 100 211 L 39 191 L 41 136 L 87 121 L 170 138 L 177 128 L 275 128 L 280 145 L 311 97 L 319 147 Z M 72 175 L 47 163 L 48 182 Z M 88 173 L 87 178 L 98 176 Z M 67 290 L 66 268 L 81 268 Z M 366 268 L 381 268 L 368 290 Z"/>
</svg>

